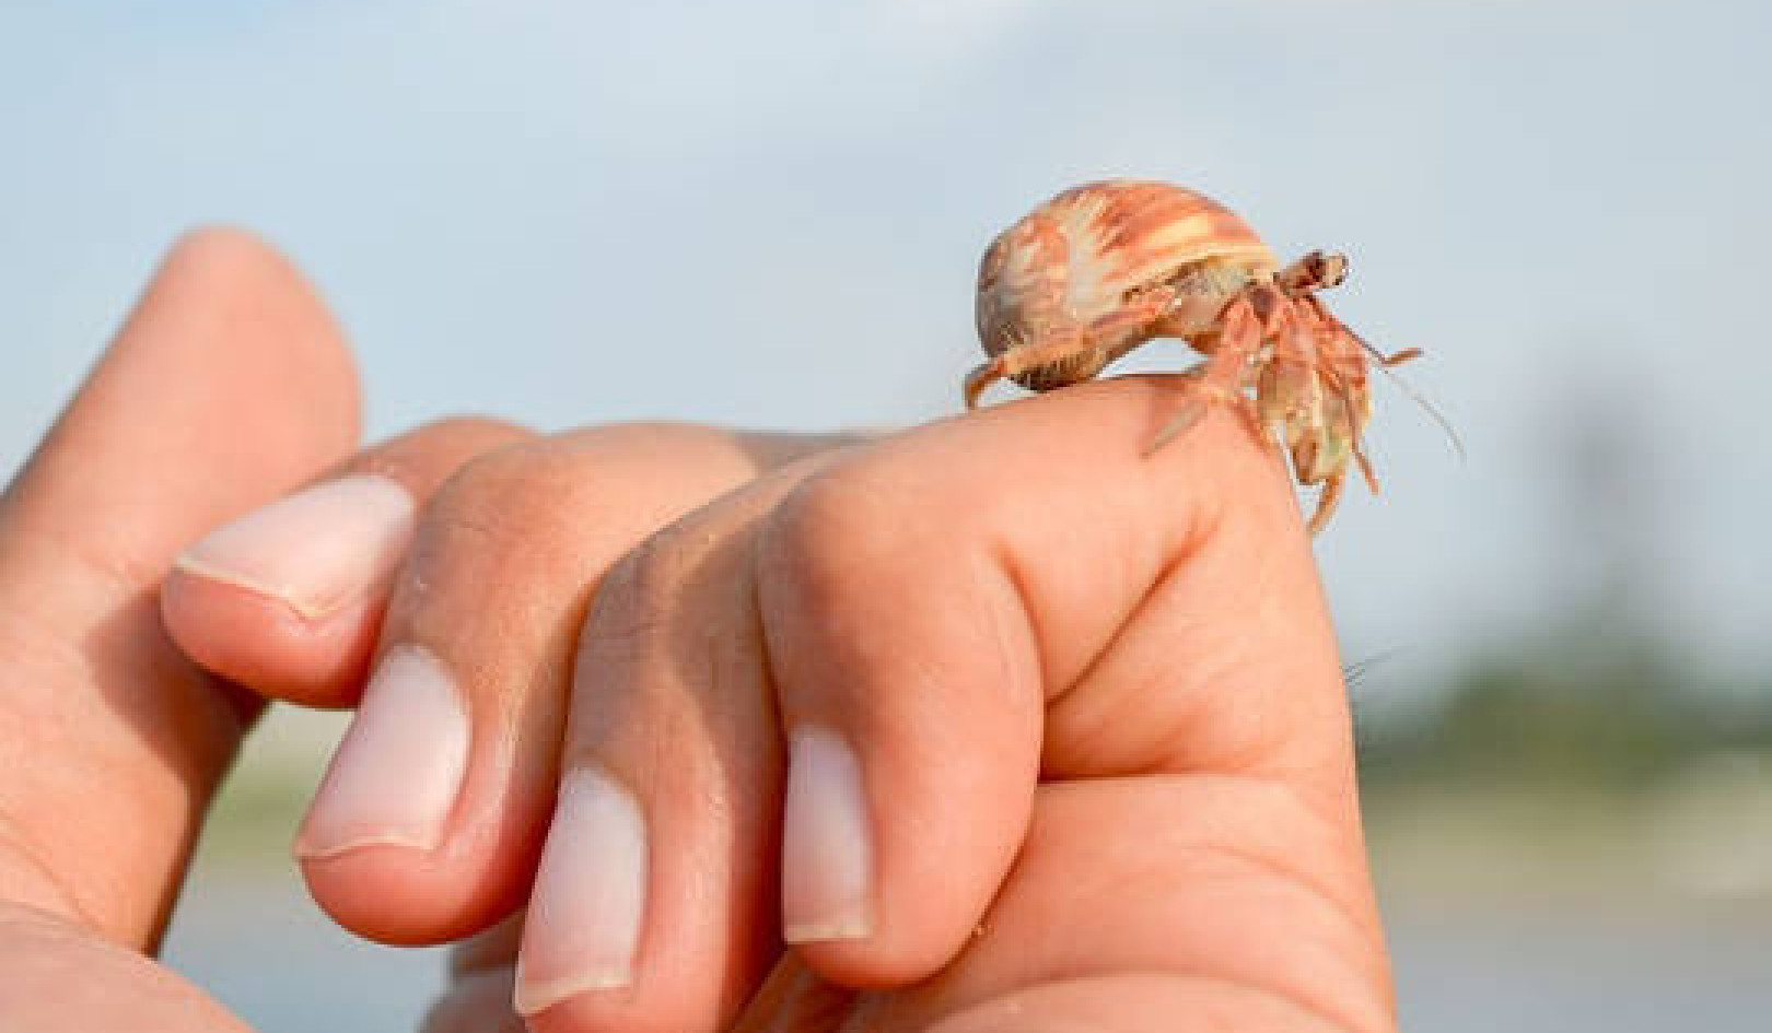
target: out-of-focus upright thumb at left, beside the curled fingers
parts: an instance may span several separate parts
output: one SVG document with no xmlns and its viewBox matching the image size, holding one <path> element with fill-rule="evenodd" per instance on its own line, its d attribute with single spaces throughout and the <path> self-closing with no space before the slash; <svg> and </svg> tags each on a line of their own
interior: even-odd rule
<svg viewBox="0 0 1772 1033">
<path fill-rule="evenodd" d="M 250 709 L 181 659 L 172 556 L 356 439 L 331 319 L 273 250 L 200 230 L 0 496 L 0 902 L 152 946 Z"/>
</svg>

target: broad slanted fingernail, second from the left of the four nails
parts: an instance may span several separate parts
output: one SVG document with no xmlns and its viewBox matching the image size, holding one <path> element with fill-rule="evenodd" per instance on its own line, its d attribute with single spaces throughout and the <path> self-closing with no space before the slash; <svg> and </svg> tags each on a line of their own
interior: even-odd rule
<svg viewBox="0 0 1772 1033">
<path fill-rule="evenodd" d="M 448 670 L 425 649 L 390 649 L 326 769 L 296 856 L 436 847 L 466 769 L 468 712 Z"/>
</svg>

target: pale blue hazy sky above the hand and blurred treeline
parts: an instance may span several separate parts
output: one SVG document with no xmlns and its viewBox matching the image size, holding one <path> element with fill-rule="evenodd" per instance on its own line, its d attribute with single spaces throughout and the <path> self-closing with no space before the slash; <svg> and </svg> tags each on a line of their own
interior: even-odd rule
<svg viewBox="0 0 1772 1033">
<path fill-rule="evenodd" d="M 193 223 L 312 273 L 377 434 L 877 425 L 953 409 L 991 234 L 1159 177 L 1345 250 L 1334 307 L 1469 445 L 1380 393 L 1387 494 L 1318 549 L 1352 656 L 1535 627 L 1623 526 L 1648 610 L 1763 663 L 1768 39 L 1745 0 L 7 4 L 0 466 Z"/>
</svg>

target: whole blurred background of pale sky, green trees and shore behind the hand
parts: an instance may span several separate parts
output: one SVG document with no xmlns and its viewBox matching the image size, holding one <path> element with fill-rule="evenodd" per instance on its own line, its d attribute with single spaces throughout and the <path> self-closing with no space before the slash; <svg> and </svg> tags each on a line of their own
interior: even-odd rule
<svg viewBox="0 0 1772 1033">
<path fill-rule="evenodd" d="M 1754 0 L 11 0 L 0 473 L 195 223 L 315 278 L 374 434 L 824 429 L 955 409 L 1031 204 L 1184 183 L 1347 252 L 1469 448 L 1380 384 L 1386 496 L 1318 540 L 1403 1026 L 1763 1029 L 1768 46 Z M 248 744 L 168 944 L 268 1031 L 438 982 L 287 861 L 340 726 Z"/>
</svg>

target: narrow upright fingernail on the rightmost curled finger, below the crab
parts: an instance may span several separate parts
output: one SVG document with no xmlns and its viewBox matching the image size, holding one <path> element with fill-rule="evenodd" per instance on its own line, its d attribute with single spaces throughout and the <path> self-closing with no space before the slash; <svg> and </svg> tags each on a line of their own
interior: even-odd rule
<svg viewBox="0 0 1772 1033">
<path fill-rule="evenodd" d="M 813 943 L 872 934 L 868 804 L 861 764 L 840 735 L 794 730 L 781 826 L 781 937 Z"/>
</svg>

